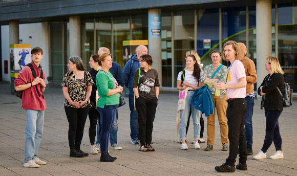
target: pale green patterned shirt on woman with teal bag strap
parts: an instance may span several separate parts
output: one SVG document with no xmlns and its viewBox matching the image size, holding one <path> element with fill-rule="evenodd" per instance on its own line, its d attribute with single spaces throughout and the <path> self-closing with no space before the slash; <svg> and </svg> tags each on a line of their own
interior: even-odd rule
<svg viewBox="0 0 297 176">
<path fill-rule="evenodd" d="M 204 70 L 203 70 L 203 75 L 205 74 L 207 78 L 211 78 L 213 74 L 215 73 L 214 70 L 214 64 L 206 65 Z M 220 70 L 216 73 L 216 75 L 213 77 L 213 79 L 219 79 L 219 81 L 226 83 L 226 78 L 227 78 L 227 73 L 228 73 L 228 68 L 225 65 L 222 65 Z M 206 78 L 203 76 L 201 77 L 201 82 L 205 83 Z M 216 81 L 216 82 L 219 82 Z M 211 94 L 216 94 L 216 88 L 213 85 L 208 85 L 208 89 L 211 92 Z M 223 94 L 226 94 L 226 90 L 222 90 Z"/>
</svg>

